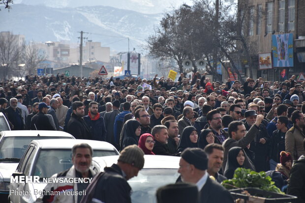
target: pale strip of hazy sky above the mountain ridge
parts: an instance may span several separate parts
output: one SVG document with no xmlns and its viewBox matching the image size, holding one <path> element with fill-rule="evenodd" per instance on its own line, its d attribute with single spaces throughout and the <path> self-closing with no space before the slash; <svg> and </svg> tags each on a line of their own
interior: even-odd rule
<svg viewBox="0 0 305 203">
<path fill-rule="evenodd" d="M 192 0 L 14 0 L 14 3 L 44 4 L 59 8 L 103 5 L 152 14 L 163 13 L 183 3 L 192 5 Z"/>
</svg>

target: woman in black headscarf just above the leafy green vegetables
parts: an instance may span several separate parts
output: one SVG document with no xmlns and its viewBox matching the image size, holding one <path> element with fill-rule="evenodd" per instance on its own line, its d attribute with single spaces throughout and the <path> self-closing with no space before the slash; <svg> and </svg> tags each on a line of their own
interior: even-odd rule
<svg viewBox="0 0 305 203">
<path fill-rule="evenodd" d="M 244 168 L 244 154 L 244 149 L 239 146 L 234 146 L 229 150 L 228 161 L 226 169 L 224 170 L 224 176 L 226 178 L 232 179 L 237 168 Z"/>
</svg>

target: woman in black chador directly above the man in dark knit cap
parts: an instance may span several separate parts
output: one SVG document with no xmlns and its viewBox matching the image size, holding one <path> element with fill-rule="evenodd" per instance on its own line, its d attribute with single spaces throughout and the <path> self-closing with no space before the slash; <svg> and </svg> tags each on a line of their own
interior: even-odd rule
<svg viewBox="0 0 305 203">
<path fill-rule="evenodd" d="M 183 129 L 177 152 L 183 152 L 187 147 L 198 147 L 198 134 L 194 126 L 187 126 Z"/>
</svg>

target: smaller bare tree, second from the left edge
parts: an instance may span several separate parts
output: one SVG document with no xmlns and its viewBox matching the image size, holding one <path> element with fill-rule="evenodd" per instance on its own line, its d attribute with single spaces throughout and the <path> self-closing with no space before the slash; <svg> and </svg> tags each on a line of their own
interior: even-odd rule
<svg viewBox="0 0 305 203">
<path fill-rule="evenodd" d="M 44 52 L 39 52 L 37 45 L 34 42 L 29 42 L 24 46 L 22 59 L 25 63 L 25 71 L 30 75 L 36 73 L 37 65 L 45 60 L 46 56 Z"/>
</svg>

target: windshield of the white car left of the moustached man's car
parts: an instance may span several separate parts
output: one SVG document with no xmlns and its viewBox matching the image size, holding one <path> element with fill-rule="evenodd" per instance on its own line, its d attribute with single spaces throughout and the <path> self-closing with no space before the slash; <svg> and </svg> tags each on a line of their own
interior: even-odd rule
<svg viewBox="0 0 305 203">
<path fill-rule="evenodd" d="M 21 159 L 22 155 L 24 154 L 24 152 L 26 151 L 32 140 L 44 140 L 44 139 L 69 139 L 69 137 L 50 137 L 50 136 L 4 137 L 0 143 L 0 162 L 7 161 L 10 158 L 17 158 L 16 160 Z"/>
</svg>

